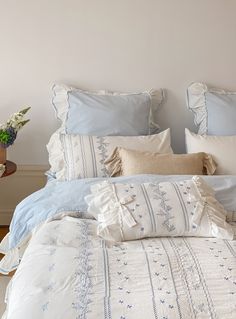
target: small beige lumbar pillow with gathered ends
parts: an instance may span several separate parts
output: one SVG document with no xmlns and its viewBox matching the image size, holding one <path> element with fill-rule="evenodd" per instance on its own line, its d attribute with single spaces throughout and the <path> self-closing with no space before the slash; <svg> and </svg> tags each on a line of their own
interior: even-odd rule
<svg viewBox="0 0 236 319">
<path fill-rule="evenodd" d="M 110 176 L 137 174 L 213 175 L 216 164 L 206 153 L 159 154 L 115 148 L 105 161 Z"/>
</svg>

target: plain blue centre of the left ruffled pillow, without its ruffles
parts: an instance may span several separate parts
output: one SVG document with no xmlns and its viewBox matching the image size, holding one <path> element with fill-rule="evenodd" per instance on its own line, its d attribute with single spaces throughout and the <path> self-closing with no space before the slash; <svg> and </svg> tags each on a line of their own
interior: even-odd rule
<svg viewBox="0 0 236 319">
<path fill-rule="evenodd" d="M 78 91 L 69 94 L 67 133 L 80 135 L 146 135 L 150 96 L 113 96 Z"/>
</svg>

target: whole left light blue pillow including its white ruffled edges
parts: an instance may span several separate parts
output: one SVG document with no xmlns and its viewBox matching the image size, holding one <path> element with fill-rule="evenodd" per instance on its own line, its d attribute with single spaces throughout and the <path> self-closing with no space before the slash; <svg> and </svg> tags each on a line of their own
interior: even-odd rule
<svg viewBox="0 0 236 319">
<path fill-rule="evenodd" d="M 126 94 L 55 85 L 53 93 L 53 105 L 64 133 L 137 136 L 159 131 L 155 113 L 163 100 L 161 89 Z"/>
</svg>

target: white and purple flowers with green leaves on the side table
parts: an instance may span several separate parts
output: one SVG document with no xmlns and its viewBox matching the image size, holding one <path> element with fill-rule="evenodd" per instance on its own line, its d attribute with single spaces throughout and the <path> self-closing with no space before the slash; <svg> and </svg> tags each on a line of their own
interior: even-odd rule
<svg viewBox="0 0 236 319">
<path fill-rule="evenodd" d="M 18 131 L 29 122 L 29 120 L 24 119 L 29 109 L 30 107 L 27 107 L 14 113 L 5 124 L 0 125 L 0 147 L 8 148 L 14 143 Z"/>
</svg>

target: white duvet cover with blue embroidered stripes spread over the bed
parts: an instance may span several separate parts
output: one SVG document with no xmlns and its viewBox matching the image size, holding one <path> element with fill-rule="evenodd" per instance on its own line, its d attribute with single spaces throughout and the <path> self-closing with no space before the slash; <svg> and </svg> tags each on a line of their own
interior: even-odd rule
<svg viewBox="0 0 236 319">
<path fill-rule="evenodd" d="M 236 317 L 236 241 L 112 244 L 96 228 L 69 217 L 43 225 L 8 287 L 4 319 Z"/>
</svg>

